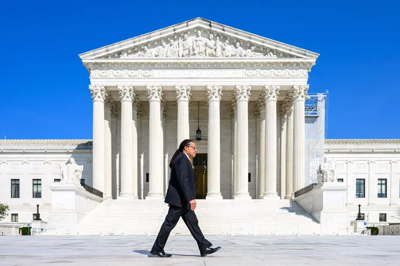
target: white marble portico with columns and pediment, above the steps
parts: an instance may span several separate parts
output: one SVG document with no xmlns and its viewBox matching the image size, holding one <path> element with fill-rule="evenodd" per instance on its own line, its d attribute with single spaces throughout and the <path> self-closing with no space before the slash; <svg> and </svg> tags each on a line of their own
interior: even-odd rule
<svg viewBox="0 0 400 266">
<path fill-rule="evenodd" d="M 93 187 L 107 198 L 161 200 L 170 157 L 197 127 L 206 199 L 290 198 L 304 186 L 304 99 L 318 55 L 221 27 L 196 18 L 80 55 Z"/>
</svg>

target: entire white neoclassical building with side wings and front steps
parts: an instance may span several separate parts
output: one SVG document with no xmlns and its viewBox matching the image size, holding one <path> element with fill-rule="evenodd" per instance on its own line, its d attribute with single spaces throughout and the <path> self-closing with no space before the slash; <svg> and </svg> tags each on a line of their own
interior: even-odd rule
<svg viewBox="0 0 400 266">
<path fill-rule="evenodd" d="M 369 224 L 397 221 L 400 140 L 325 139 L 326 93 L 307 81 L 317 53 L 195 18 L 79 56 L 93 138 L 0 140 L 5 223 L 27 225 L 40 206 L 53 233 L 156 234 L 184 139 L 206 234 L 348 233 L 358 204 Z M 330 200 L 315 196 L 324 158 Z M 314 210 L 322 199 L 331 212 Z"/>
</svg>

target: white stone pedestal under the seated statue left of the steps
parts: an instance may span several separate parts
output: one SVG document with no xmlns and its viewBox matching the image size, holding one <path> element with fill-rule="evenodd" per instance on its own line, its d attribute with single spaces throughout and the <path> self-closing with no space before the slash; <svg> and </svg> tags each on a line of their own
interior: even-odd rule
<svg viewBox="0 0 400 266">
<path fill-rule="evenodd" d="M 47 216 L 48 231 L 76 225 L 103 201 L 102 198 L 85 191 L 80 185 L 54 183 L 49 189 L 52 191 L 53 208 Z"/>
</svg>

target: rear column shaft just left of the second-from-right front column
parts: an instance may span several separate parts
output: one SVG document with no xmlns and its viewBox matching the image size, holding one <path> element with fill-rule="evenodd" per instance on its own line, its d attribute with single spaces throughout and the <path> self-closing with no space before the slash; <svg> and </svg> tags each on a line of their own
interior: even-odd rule
<svg viewBox="0 0 400 266">
<path fill-rule="evenodd" d="M 262 104 L 260 106 L 259 110 L 259 194 L 258 194 L 258 199 L 262 199 L 264 196 L 265 192 L 265 104 Z"/>
</svg>

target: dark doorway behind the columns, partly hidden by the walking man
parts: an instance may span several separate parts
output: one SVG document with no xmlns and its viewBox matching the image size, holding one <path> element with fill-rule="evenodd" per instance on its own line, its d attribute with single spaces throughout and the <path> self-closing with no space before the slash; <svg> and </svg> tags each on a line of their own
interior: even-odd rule
<svg viewBox="0 0 400 266">
<path fill-rule="evenodd" d="M 192 159 L 194 179 L 196 182 L 196 200 L 203 200 L 207 196 L 207 154 L 197 153 Z"/>
</svg>

